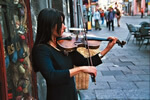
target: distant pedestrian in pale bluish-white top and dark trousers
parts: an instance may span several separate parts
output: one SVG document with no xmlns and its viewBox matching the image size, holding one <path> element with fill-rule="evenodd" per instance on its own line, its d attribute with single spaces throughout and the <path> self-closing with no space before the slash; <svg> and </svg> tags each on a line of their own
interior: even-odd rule
<svg viewBox="0 0 150 100">
<path fill-rule="evenodd" d="M 96 11 L 94 12 L 93 17 L 94 17 L 94 21 L 95 21 L 95 30 L 97 30 L 97 29 L 101 30 L 101 27 L 99 24 L 100 13 L 99 13 L 98 9 L 96 9 Z"/>
</svg>

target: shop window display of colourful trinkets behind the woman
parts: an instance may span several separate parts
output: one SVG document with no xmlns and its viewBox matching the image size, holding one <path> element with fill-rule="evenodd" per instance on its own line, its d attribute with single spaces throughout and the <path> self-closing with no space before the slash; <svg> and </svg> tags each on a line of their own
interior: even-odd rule
<svg viewBox="0 0 150 100">
<path fill-rule="evenodd" d="M 34 100 L 32 97 L 32 68 L 29 59 L 26 3 L 25 0 L 11 0 L 8 4 L 8 9 L 2 7 L 0 13 L 8 99 Z M 3 10 L 6 10 L 7 13 Z"/>
</svg>

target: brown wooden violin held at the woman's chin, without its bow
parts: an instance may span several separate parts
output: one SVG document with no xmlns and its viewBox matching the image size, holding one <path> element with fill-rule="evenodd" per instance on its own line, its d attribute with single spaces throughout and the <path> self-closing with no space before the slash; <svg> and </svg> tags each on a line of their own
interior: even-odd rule
<svg viewBox="0 0 150 100">
<path fill-rule="evenodd" d="M 87 40 L 87 41 L 86 41 Z M 109 41 L 111 39 L 101 38 L 95 36 L 93 34 L 83 35 L 75 35 L 73 33 L 63 33 L 62 37 L 57 38 L 57 46 L 60 50 L 65 50 L 68 52 L 72 52 L 76 50 L 78 47 L 89 47 L 90 49 L 97 49 L 100 46 L 101 41 Z M 116 42 L 118 46 L 123 47 L 126 42 L 120 41 L 119 39 Z"/>
</svg>

